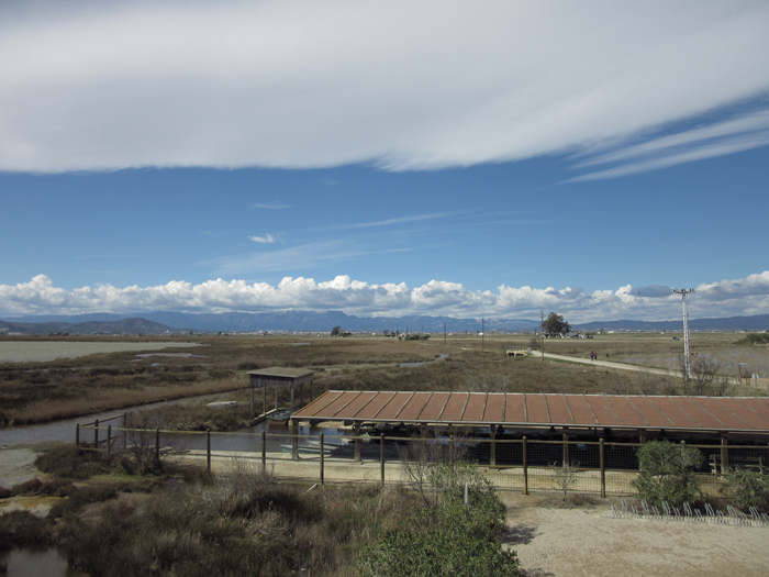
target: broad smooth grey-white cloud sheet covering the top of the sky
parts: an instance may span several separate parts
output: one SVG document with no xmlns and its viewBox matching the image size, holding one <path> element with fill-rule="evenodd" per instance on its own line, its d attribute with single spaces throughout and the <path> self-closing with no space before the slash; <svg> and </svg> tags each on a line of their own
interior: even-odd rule
<svg viewBox="0 0 769 577">
<path fill-rule="evenodd" d="M 768 22 L 738 0 L 8 1 L 0 170 L 566 153 L 613 178 L 769 144 Z"/>
</svg>

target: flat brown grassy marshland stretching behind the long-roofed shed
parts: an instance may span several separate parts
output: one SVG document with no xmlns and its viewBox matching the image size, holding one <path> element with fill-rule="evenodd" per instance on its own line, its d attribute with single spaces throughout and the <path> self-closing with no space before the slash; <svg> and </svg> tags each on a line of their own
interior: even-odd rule
<svg viewBox="0 0 769 577">
<path fill-rule="evenodd" d="M 676 357 L 683 351 L 671 334 L 612 334 L 592 340 L 547 340 L 549 353 L 634 363 L 654 355 Z M 695 333 L 692 349 L 716 354 L 766 349 L 766 345 L 736 345 L 739 335 Z M 31 342 L 48 337 L 27 337 Z M 57 337 L 59 341 L 62 337 Z M 435 335 L 426 342 L 394 339 L 332 339 L 307 336 L 64 337 L 73 341 L 131 343 L 166 342 L 163 351 L 93 354 L 51 362 L 0 364 L 0 423 L 22 424 L 122 409 L 143 403 L 234 391 L 229 398 L 247 399 L 246 371 L 271 366 L 315 371 L 315 390 L 471 390 L 509 392 L 639 392 L 632 374 L 538 357 L 506 357 L 509 348 L 528 347 L 528 335 Z M 10 341 L 11 339 L 4 339 Z M 14 341 L 24 339 L 15 337 Z M 196 342 L 202 346 L 174 348 Z M 310 343 L 302 344 L 299 343 Z M 149 345 L 153 346 L 153 345 Z M 196 356 L 166 356 L 190 353 Z M 439 354 L 445 360 L 435 360 Z M 202 355 L 202 356 L 200 356 Z M 427 362 L 417 367 L 401 363 Z M 643 363 L 640 363 L 643 364 Z M 673 379 L 675 380 L 675 379 Z M 675 392 L 676 382 L 659 384 Z M 736 391 L 739 392 L 739 391 Z M 288 391 L 286 391 L 288 393 Z M 287 399 L 283 399 L 286 401 Z"/>
</svg>

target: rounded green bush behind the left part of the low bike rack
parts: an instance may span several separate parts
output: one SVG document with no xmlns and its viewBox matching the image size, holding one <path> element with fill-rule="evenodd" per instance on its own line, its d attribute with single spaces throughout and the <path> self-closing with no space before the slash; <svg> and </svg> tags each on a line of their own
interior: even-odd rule
<svg viewBox="0 0 769 577">
<path fill-rule="evenodd" d="M 669 441 L 650 441 L 638 450 L 638 478 L 631 482 L 638 497 L 649 504 L 667 501 L 680 507 L 684 501 L 702 497 L 701 482 L 694 469 L 703 457 L 696 448 Z"/>
</svg>

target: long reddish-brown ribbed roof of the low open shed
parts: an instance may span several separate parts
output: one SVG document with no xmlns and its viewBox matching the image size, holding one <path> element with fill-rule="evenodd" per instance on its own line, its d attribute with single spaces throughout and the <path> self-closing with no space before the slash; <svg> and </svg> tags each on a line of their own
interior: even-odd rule
<svg viewBox="0 0 769 577">
<path fill-rule="evenodd" d="M 769 432 L 769 398 L 330 390 L 293 419 Z"/>
</svg>

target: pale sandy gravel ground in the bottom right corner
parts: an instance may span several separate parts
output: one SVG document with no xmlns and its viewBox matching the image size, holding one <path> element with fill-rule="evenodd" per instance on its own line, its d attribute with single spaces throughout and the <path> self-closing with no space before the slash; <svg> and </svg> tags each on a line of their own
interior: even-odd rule
<svg viewBox="0 0 769 577">
<path fill-rule="evenodd" d="M 769 528 L 601 517 L 610 506 L 510 503 L 508 542 L 530 577 L 769 575 Z"/>
</svg>

